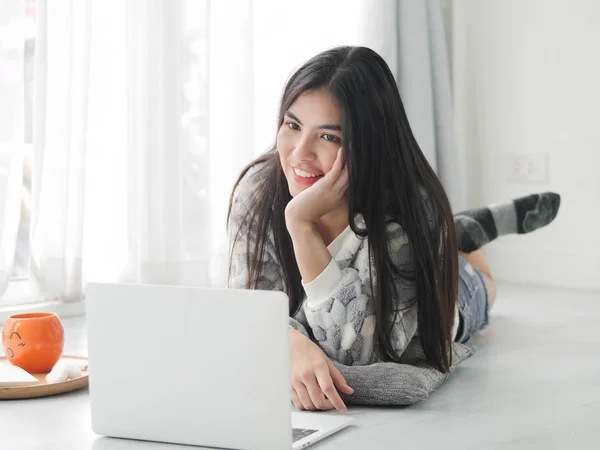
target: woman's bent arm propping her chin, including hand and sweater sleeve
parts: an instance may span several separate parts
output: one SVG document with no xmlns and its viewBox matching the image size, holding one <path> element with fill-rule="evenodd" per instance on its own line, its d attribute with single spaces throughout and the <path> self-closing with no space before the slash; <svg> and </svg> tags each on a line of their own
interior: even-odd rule
<svg viewBox="0 0 600 450">
<path fill-rule="evenodd" d="M 348 171 L 340 149 L 331 170 L 288 203 L 285 219 L 307 296 L 303 308 L 315 339 L 330 358 L 345 365 L 365 365 L 376 360 L 368 249 L 359 250 L 355 267 L 342 270 L 315 228 L 320 217 L 347 201 L 347 188 Z M 409 245 L 400 225 L 390 224 L 386 238 L 392 262 L 398 267 L 410 264 Z M 394 350 L 402 353 L 416 331 L 416 307 L 401 309 L 414 290 L 399 279 L 394 284 L 397 297 L 387 300 L 398 307 L 398 314 L 389 319 L 394 321 L 390 337 Z"/>
</svg>

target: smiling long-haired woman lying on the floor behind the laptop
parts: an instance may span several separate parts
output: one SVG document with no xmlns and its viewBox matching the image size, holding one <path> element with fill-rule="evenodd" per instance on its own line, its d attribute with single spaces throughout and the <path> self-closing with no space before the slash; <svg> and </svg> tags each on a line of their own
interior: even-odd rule
<svg viewBox="0 0 600 450">
<path fill-rule="evenodd" d="M 287 83 L 278 125 L 276 145 L 232 194 L 230 286 L 284 291 L 290 317 L 309 330 L 312 339 L 290 327 L 294 405 L 344 412 L 337 389 L 352 389 L 332 360 L 397 362 L 415 337 L 448 371 L 452 341 L 487 325 L 496 295 L 478 245 L 532 231 L 497 219 L 557 210 L 557 196 L 454 218 L 388 66 L 368 48 L 306 62 Z"/>
</svg>

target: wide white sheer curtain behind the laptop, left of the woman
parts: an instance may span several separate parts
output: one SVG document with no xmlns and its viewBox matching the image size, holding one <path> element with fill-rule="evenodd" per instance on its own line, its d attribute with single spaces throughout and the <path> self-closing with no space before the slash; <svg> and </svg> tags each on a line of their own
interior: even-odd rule
<svg viewBox="0 0 600 450">
<path fill-rule="evenodd" d="M 227 199 L 255 154 L 252 120 L 232 118 L 252 105 L 252 9 L 219 3 L 40 2 L 31 275 L 47 297 L 225 285 Z"/>
</svg>

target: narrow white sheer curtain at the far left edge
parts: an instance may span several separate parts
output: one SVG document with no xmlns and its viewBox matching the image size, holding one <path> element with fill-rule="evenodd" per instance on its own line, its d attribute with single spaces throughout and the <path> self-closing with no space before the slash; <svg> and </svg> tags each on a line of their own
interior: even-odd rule
<svg viewBox="0 0 600 450">
<path fill-rule="evenodd" d="M 24 19 L 22 1 L 0 3 L 0 295 L 12 276 L 21 213 Z"/>
</svg>

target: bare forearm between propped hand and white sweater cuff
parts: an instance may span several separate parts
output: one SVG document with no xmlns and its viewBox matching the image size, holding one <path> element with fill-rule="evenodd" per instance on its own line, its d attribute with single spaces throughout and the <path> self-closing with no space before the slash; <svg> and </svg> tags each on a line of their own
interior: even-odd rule
<svg viewBox="0 0 600 450">
<path fill-rule="evenodd" d="M 294 245 L 302 281 L 310 283 L 329 265 L 331 254 L 315 224 L 288 221 L 287 228 Z"/>
</svg>

